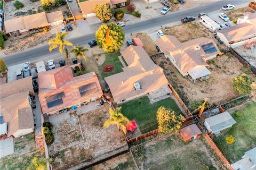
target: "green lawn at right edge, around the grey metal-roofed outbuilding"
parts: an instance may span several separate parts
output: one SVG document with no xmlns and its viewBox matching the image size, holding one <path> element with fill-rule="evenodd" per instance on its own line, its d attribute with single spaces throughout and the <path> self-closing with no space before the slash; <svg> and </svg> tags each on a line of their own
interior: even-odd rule
<svg viewBox="0 0 256 170">
<path fill-rule="evenodd" d="M 242 158 L 244 152 L 256 147 L 256 104 L 247 104 L 244 108 L 230 113 L 237 122 L 230 129 L 221 132 L 213 140 L 228 161 L 233 164 Z M 235 142 L 226 143 L 226 137 L 233 135 Z"/>
</svg>

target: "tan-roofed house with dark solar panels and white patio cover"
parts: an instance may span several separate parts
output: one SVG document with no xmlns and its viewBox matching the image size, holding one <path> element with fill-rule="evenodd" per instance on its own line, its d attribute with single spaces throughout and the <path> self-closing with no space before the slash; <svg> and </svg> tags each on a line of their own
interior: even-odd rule
<svg viewBox="0 0 256 170">
<path fill-rule="evenodd" d="M 220 53 L 214 41 L 204 37 L 180 43 L 174 36 L 163 36 L 156 44 L 183 77 L 194 83 L 209 79 L 211 72 L 206 68 L 206 61 Z"/>
</svg>

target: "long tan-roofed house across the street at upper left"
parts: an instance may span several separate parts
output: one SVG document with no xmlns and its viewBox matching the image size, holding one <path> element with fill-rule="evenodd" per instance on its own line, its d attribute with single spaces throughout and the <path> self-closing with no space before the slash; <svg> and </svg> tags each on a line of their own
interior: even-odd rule
<svg viewBox="0 0 256 170">
<path fill-rule="evenodd" d="M 61 11 L 21 16 L 20 18 L 4 21 L 4 32 L 9 36 L 20 35 L 36 29 L 61 24 L 63 19 Z"/>
</svg>

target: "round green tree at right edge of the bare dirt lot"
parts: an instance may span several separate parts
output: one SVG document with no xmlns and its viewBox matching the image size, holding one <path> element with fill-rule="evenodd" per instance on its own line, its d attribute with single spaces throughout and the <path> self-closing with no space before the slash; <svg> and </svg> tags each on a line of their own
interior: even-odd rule
<svg viewBox="0 0 256 170">
<path fill-rule="evenodd" d="M 252 91 L 252 79 L 246 74 L 238 76 L 233 79 L 232 86 L 239 93 L 239 95 L 250 94 Z"/>
</svg>

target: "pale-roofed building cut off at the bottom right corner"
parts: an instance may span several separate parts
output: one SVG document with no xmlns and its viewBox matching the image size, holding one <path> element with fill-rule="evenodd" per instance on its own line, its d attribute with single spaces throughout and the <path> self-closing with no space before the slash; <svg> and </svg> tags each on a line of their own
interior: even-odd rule
<svg viewBox="0 0 256 170">
<path fill-rule="evenodd" d="M 242 158 L 231 165 L 234 170 L 256 170 L 256 147 L 246 151 Z"/>
</svg>

